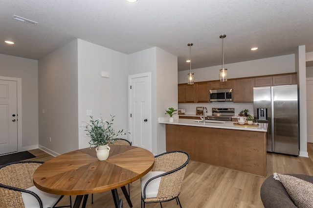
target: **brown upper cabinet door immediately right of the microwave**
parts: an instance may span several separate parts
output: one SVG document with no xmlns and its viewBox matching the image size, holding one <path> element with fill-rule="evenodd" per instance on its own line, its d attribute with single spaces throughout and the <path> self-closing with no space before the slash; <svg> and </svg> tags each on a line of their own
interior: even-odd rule
<svg viewBox="0 0 313 208">
<path fill-rule="evenodd" d="M 254 79 L 233 80 L 233 102 L 253 102 Z"/>
</svg>

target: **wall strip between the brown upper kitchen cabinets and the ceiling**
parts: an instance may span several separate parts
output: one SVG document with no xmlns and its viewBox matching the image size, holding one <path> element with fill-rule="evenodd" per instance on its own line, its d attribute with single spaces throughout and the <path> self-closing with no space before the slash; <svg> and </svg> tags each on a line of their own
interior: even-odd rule
<svg viewBox="0 0 313 208">
<path fill-rule="evenodd" d="M 251 61 L 244 61 L 232 64 L 224 64 L 227 68 L 227 78 L 239 78 L 248 76 L 263 76 L 283 73 L 295 72 L 294 69 L 294 54 L 270 57 Z M 192 69 L 195 82 L 220 80 L 219 72 L 221 66 L 206 67 L 201 69 Z M 187 71 L 178 73 L 178 82 L 187 83 Z"/>
</svg>

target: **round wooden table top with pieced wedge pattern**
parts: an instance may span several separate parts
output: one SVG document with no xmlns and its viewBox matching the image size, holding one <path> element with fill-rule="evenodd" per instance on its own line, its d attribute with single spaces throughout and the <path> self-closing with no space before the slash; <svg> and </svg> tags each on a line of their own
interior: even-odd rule
<svg viewBox="0 0 313 208">
<path fill-rule="evenodd" d="M 107 160 L 99 161 L 95 148 L 67 152 L 42 164 L 34 185 L 59 195 L 84 195 L 125 186 L 149 172 L 155 157 L 143 148 L 110 145 Z"/>
</svg>

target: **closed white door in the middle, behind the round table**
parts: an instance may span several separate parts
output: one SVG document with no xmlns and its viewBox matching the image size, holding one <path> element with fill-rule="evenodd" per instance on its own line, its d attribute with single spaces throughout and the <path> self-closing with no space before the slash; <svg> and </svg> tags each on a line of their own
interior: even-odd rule
<svg viewBox="0 0 313 208">
<path fill-rule="evenodd" d="M 129 76 L 129 85 L 132 145 L 151 151 L 151 74 Z"/>
</svg>

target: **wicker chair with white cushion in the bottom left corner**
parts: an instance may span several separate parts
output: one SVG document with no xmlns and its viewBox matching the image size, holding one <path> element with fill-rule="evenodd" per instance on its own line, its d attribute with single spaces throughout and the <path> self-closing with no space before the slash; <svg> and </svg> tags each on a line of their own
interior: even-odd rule
<svg viewBox="0 0 313 208">
<path fill-rule="evenodd" d="M 46 193 L 33 184 L 33 173 L 43 163 L 20 161 L 0 166 L 0 208 L 57 208 L 63 195 Z M 62 207 L 71 207 L 71 199 L 69 206 Z"/>
</svg>

